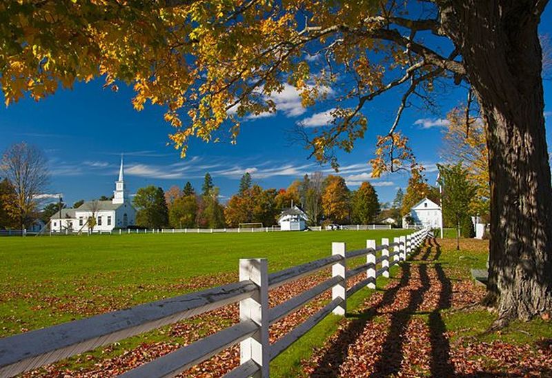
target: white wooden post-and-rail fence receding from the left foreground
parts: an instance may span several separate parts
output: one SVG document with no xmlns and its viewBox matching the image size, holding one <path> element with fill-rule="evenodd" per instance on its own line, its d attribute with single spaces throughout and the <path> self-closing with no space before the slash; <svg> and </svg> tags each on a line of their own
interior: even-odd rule
<svg viewBox="0 0 552 378">
<path fill-rule="evenodd" d="M 375 288 L 377 277 L 389 277 L 389 268 L 405 260 L 429 234 L 430 230 L 424 229 L 406 237 L 395 237 L 393 243 L 382 239 L 380 246 L 376 246 L 375 240 L 368 240 L 366 248 L 351 251 L 346 250 L 345 243 L 332 243 L 331 256 L 270 274 L 266 259 L 241 259 L 237 283 L 3 338 L 0 339 L 0 377 L 12 377 L 238 301 L 238 324 L 141 365 L 123 376 L 172 377 L 239 343 L 241 365 L 226 377 L 268 377 L 270 360 L 330 312 L 344 315 L 347 297 L 364 287 Z M 379 251 L 381 254 L 377 254 Z M 348 259 L 362 256 L 366 256 L 366 263 L 347 269 Z M 332 267 L 331 279 L 268 308 L 270 289 L 329 266 Z M 366 278 L 347 289 L 347 279 L 361 274 Z M 330 289 L 332 300 L 326 306 L 269 344 L 268 328 L 271 324 Z"/>
</svg>

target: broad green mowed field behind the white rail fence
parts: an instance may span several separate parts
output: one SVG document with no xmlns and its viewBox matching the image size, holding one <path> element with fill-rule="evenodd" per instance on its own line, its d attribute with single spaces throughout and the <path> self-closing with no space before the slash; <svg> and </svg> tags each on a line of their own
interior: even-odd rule
<svg viewBox="0 0 552 378">
<path fill-rule="evenodd" d="M 0 239 L 0 337 L 237 280 L 238 259 L 271 272 L 331 255 L 333 241 L 406 230 L 96 235 Z"/>
</svg>

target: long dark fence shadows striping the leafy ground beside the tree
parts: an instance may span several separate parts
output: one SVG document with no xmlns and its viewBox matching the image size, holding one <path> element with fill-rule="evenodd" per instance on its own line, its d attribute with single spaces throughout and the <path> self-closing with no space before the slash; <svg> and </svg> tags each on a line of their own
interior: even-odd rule
<svg viewBox="0 0 552 378">
<path fill-rule="evenodd" d="M 433 257 L 431 257 L 432 253 Z M 451 307 L 452 284 L 451 280 L 446 277 L 441 264 L 437 262 L 440 255 L 439 243 L 435 239 L 430 239 L 413 255 L 413 259 L 417 260 L 415 263 L 412 261 L 402 263 L 402 276 L 399 283 L 385 290 L 382 300 L 377 306 L 367 308 L 359 313 L 356 319 L 340 331 L 339 338 L 333 341 L 331 347 L 326 350 L 324 357 L 319 361 L 319 365 L 311 374 L 311 377 L 337 377 L 339 375 L 339 366 L 345 361 L 349 346 L 355 344 L 357 337 L 362 334 L 368 321 L 372 321 L 378 315 L 379 310 L 393 304 L 393 301 L 397 299 L 396 296 L 399 290 L 408 287 L 411 279 L 417 279 L 412 275 L 413 270 L 415 270 L 420 279 L 420 286 L 410 292 L 406 306 L 399 306 L 400 309 L 389 314 L 391 326 L 388 328 L 382 352 L 380 352 L 379 359 L 375 362 L 374 372 L 371 376 L 397 375 L 401 370 L 402 360 L 404 359 L 403 346 L 406 341 L 405 334 L 408 322 L 424 301 L 424 294 L 428 292 L 431 284 L 436 283 L 429 278 L 428 269 L 435 269 L 437 279 L 441 284 L 437 308 L 428 313 L 431 339 L 431 375 L 433 377 L 453 376 L 454 368 L 449 361 L 451 347 L 449 339 L 444 335 L 446 328 L 441 317 L 441 310 Z M 435 261 L 435 263 L 426 263 L 420 260 Z"/>
</svg>

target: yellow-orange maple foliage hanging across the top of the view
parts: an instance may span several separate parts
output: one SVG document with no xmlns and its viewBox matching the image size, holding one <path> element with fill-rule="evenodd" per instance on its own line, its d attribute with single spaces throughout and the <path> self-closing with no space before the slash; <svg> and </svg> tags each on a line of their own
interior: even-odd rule
<svg viewBox="0 0 552 378">
<path fill-rule="evenodd" d="M 360 110 L 366 101 L 415 80 L 431 90 L 444 74 L 444 68 L 431 68 L 428 62 L 435 60 L 404 50 L 399 33 L 382 31 L 404 8 L 380 6 L 322 0 L 3 1 L 0 84 L 8 104 L 27 92 L 41 99 L 75 81 L 103 76 L 113 90 L 122 81 L 133 86 L 137 110 L 148 102 L 166 108 L 164 119 L 176 128 L 170 138 L 185 155 L 190 137 L 217 141 L 221 127 L 235 141 L 240 117 L 274 112 L 270 94 L 286 82 L 311 106 L 345 74 L 351 83 L 340 82 L 342 92 L 333 99 L 343 105 L 308 144 L 317 159 L 337 166 L 333 149 L 351 150 L 364 136 L 367 119 Z M 402 22 L 403 28 L 414 26 L 420 27 Z M 398 74 L 404 77 L 391 81 Z M 357 106 L 347 105 L 351 100 Z M 393 133 L 393 145 L 402 144 Z M 374 164 L 377 175 L 382 161 Z"/>
</svg>

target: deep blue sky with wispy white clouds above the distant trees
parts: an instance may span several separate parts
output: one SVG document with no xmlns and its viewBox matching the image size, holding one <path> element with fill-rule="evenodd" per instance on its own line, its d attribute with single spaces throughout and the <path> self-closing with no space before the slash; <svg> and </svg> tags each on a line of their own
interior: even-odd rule
<svg viewBox="0 0 552 378">
<path fill-rule="evenodd" d="M 543 14 L 540 32 L 552 36 L 552 7 Z M 10 144 L 27 141 L 39 146 L 47 155 L 52 179 L 48 192 L 63 193 L 67 203 L 111 195 L 121 152 L 125 156 L 126 182 L 131 193 L 146 185 L 184 186 L 186 181 L 201 187 L 205 172 L 210 172 L 225 201 L 237 191 L 239 177 L 249 171 L 253 180 L 264 188 L 286 188 L 305 173 L 322 170 L 308 160 L 308 151 L 288 140 L 288 132 L 297 122 L 318 125 L 331 106 L 304 109 L 293 88 L 286 87 L 275 97 L 278 112 L 270 117 L 248 119 L 242 123 L 236 145 L 228 141 L 203 143 L 192 141 L 188 157 L 168 145 L 171 127 L 163 120 L 164 110 L 146 106 L 137 112 L 132 108 L 130 88 L 119 86 L 118 92 L 102 88 L 102 80 L 77 83 L 73 90 L 60 90 L 39 102 L 23 99 L 9 108 L 0 108 L 0 150 Z M 544 81 L 546 123 L 552 119 L 552 82 Z M 377 135 L 388 130 L 399 105 L 399 93 L 390 92 L 368 103 L 368 132 L 353 152 L 338 154 L 342 166 L 339 175 L 355 189 L 369 179 L 376 187 L 380 201 L 392 201 L 397 188 L 404 188 L 405 173 L 394 173 L 370 179 L 369 159 L 373 157 Z M 408 108 L 400 130 L 411 139 L 418 161 L 426 166 L 426 177 L 435 182 L 435 163 L 442 155 L 442 121 L 446 112 L 465 99 L 458 88 L 440 94 L 440 110 L 428 112 L 422 107 Z M 548 132 L 549 141 L 551 132 Z"/>
</svg>

